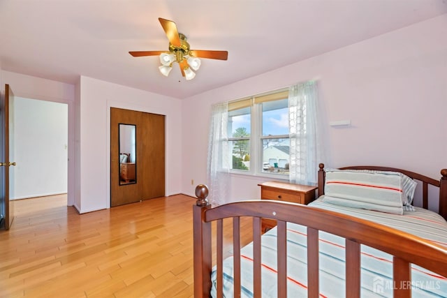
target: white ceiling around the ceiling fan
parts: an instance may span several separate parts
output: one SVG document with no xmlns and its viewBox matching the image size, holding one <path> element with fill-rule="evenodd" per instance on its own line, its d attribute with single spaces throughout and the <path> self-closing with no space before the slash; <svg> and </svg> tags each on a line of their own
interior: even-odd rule
<svg viewBox="0 0 447 298">
<path fill-rule="evenodd" d="M 187 98 L 447 13 L 447 0 L 0 0 L 0 68 L 75 84 L 80 75 Z M 186 81 L 159 73 L 159 23 L 177 23 L 203 59 Z M 7 82 L 5 82 L 7 83 Z"/>
</svg>

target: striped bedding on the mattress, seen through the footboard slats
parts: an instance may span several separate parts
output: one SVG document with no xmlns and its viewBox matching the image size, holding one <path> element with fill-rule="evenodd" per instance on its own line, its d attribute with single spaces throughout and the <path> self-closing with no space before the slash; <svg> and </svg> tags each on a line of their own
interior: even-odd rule
<svg viewBox="0 0 447 298">
<path fill-rule="evenodd" d="M 365 209 L 341 207 L 323 202 L 323 197 L 312 202 L 314 207 L 365 218 L 393 228 L 416 234 L 419 237 L 447 246 L 447 223 L 432 211 L 415 207 L 404 215 L 385 214 Z M 307 297 L 306 228 L 287 225 L 288 297 Z M 262 297 L 277 296 L 276 229 L 266 232 L 262 243 Z M 396 244 L 399 245 L 399 244 Z M 253 297 L 252 244 L 241 250 L 242 297 Z M 393 288 L 411 287 L 413 297 L 447 297 L 447 279 L 412 265 L 411 283 L 393 285 L 392 257 L 374 248 L 362 246 L 361 296 L 393 297 Z M 223 292 L 233 297 L 233 258 L 223 262 Z M 216 268 L 212 270 L 212 297 L 216 296 Z M 345 297 L 344 288 L 344 239 L 320 232 L 320 297 Z"/>
</svg>

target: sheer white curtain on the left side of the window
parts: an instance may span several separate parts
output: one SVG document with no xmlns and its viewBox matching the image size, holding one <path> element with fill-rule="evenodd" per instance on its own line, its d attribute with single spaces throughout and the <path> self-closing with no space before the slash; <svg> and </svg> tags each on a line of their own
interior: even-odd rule
<svg viewBox="0 0 447 298">
<path fill-rule="evenodd" d="M 212 105 L 208 141 L 207 184 L 208 202 L 212 205 L 229 202 L 230 151 L 228 148 L 228 103 Z"/>
</svg>

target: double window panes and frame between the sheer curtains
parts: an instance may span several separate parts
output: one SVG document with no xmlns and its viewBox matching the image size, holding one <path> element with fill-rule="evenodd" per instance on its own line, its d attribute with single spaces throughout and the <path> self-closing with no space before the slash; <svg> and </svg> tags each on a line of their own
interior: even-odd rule
<svg viewBox="0 0 447 298">
<path fill-rule="evenodd" d="M 233 172 L 288 179 L 288 89 L 229 103 L 228 141 Z"/>
</svg>

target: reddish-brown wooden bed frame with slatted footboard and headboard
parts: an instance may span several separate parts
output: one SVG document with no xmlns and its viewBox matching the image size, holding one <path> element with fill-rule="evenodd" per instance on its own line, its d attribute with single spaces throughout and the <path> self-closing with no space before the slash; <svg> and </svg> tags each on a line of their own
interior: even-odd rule
<svg viewBox="0 0 447 298">
<path fill-rule="evenodd" d="M 324 194 L 324 165 L 319 165 L 318 196 Z M 447 218 L 447 169 L 441 170 L 441 179 L 393 167 L 355 166 L 342 169 L 369 169 L 402 172 L 422 181 L 423 207 L 428 206 L 428 185 L 439 188 L 439 214 Z M 416 264 L 447 277 L 447 248 L 406 232 L 388 228 L 360 218 L 301 204 L 272 200 L 233 202 L 212 208 L 208 204 L 207 186 L 196 187 L 198 200 L 193 206 L 194 237 L 194 297 L 210 297 L 212 286 L 212 221 L 217 222 L 216 260 L 217 297 L 222 297 L 223 218 L 233 218 L 233 255 L 235 297 L 240 297 L 240 216 L 253 218 L 254 243 L 254 297 L 261 297 L 261 218 L 277 220 L 278 297 L 287 296 L 286 287 L 286 223 L 307 226 L 307 280 L 308 297 L 318 297 L 318 231 L 336 234 L 346 239 L 346 297 L 360 297 L 360 244 L 365 244 L 393 255 L 393 281 L 402 284 L 411 281 L 410 264 Z M 299 214 L 299 216 L 297 216 Z M 395 245 L 399 243 L 400 245 Z M 395 288 L 394 297 L 411 297 L 411 287 Z"/>
</svg>

